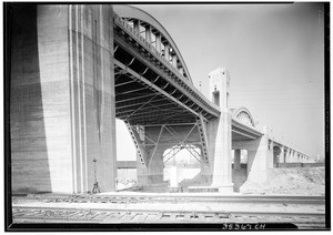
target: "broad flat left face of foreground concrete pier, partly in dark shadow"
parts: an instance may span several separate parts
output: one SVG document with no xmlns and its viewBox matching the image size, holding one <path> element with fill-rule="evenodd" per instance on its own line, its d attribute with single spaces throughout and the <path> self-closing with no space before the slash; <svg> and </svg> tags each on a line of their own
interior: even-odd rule
<svg viewBox="0 0 333 235">
<path fill-rule="evenodd" d="M 67 22 L 62 7 L 13 9 L 10 126 L 14 192 L 72 190 Z"/>
</svg>

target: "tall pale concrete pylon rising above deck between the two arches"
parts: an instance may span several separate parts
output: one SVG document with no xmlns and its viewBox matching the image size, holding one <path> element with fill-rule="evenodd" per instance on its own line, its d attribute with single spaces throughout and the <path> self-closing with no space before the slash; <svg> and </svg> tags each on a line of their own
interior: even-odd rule
<svg viewBox="0 0 333 235">
<path fill-rule="evenodd" d="M 212 157 L 212 186 L 221 193 L 233 192 L 231 165 L 231 112 L 228 109 L 230 76 L 224 69 L 209 74 L 210 94 L 221 109 L 219 119 L 208 123 L 209 152 Z"/>
</svg>

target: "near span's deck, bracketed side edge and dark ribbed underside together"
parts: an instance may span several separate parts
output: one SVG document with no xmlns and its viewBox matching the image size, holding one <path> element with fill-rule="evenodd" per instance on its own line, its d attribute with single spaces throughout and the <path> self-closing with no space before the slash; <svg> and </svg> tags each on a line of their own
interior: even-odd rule
<svg viewBox="0 0 333 235">
<path fill-rule="evenodd" d="M 114 59 L 117 117 L 131 124 L 170 124 L 219 116 L 216 105 L 119 18 L 114 20 Z"/>
</svg>

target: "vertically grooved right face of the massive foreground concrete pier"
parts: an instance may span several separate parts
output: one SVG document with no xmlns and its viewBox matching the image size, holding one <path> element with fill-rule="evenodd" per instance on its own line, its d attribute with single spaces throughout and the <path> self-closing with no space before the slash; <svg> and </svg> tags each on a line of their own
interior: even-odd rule
<svg viewBox="0 0 333 235">
<path fill-rule="evenodd" d="M 74 185 L 77 192 L 92 190 L 95 159 L 99 186 L 103 192 L 114 191 L 113 9 L 108 4 L 68 7 L 74 174 L 83 175 L 77 177 Z"/>
</svg>

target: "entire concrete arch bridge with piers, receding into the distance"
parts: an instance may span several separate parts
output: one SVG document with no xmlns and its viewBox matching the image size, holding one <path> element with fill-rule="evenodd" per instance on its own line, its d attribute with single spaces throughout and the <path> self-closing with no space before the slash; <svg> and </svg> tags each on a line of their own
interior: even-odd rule
<svg viewBox="0 0 333 235">
<path fill-rule="evenodd" d="M 140 9 L 12 4 L 8 19 L 14 192 L 87 193 L 95 180 L 115 191 L 115 119 L 132 136 L 142 185 L 163 183 L 174 147 L 196 154 L 201 185 L 220 192 L 233 190 L 232 150 L 235 168 L 248 150 L 253 181 L 276 162 L 309 161 L 258 130 L 248 109 L 229 108 L 225 69 L 209 74 L 210 99 L 201 94 L 171 35 Z"/>
</svg>

